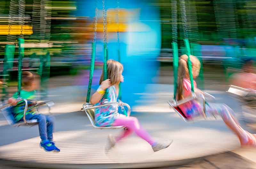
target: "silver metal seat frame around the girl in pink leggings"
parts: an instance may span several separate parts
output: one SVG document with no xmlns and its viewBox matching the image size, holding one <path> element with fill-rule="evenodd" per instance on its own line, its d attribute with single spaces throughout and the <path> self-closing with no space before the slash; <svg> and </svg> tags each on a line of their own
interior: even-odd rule
<svg viewBox="0 0 256 169">
<path fill-rule="evenodd" d="M 128 111 L 127 111 L 127 116 L 129 117 L 130 114 L 131 114 L 131 107 L 129 106 L 129 104 L 126 104 L 126 103 L 123 103 L 121 101 L 119 102 L 113 102 L 113 103 L 104 103 L 104 104 L 100 104 L 100 105 L 97 105 L 97 106 L 94 106 L 93 104 L 90 104 L 90 103 L 85 103 L 83 104 L 83 108 L 81 109 L 81 111 L 85 111 L 86 115 L 88 116 L 88 119 L 90 120 L 91 124 L 92 124 L 92 127 L 94 128 L 99 128 L 99 129 L 103 129 L 103 128 L 112 128 L 112 129 L 117 129 L 117 128 L 125 128 L 125 126 L 108 126 L 108 127 L 99 127 L 99 126 L 96 126 L 95 125 L 95 121 L 92 117 L 94 117 L 94 115 L 92 116 L 92 112 L 90 111 L 93 111 L 93 109 L 95 108 L 99 108 L 99 107 L 104 107 L 104 106 L 109 106 L 109 105 L 115 105 L 115 106 L 120 106 L 120 107 L 123 107 L 123 106 L 126 106 L 128 108 Z M 94 111 L 93 111 L 94 113 Z"/>
</svg>

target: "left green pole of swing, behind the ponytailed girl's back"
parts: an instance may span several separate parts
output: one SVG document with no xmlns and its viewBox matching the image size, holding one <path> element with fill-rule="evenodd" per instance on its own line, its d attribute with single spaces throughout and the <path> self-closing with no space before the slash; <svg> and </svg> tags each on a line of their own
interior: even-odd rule
<svg viewBox="0 0 256 169">
<path fill-rule="evenodd" d="M 172 55 L 173 55 L 173 78 L 174 78 L 174 93 L 173 99 L 176 100 L 176 93 L 177 93 L 177 79 L 178 79 L 178 67 L 179 67 L 179 54 L 178 54 L 178 44 L 176 42 L 172 42 Z"/>
</svg>

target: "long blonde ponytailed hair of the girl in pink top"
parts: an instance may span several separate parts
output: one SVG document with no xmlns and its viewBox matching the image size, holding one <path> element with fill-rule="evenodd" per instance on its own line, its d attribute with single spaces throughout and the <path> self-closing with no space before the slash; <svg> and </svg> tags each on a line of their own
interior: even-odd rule
<svg viewBox="0 0 256 169">
<path fill-rule="evenodd" d="M 192 72 L 193 72 L 194 67 L 196 69 L 200 70 L 200 61 L 193 55 L 190 55 L 189 58 L 192 62 Z M 183 99 L 183 81 L 184 81 L 185 78 L 187 78 L 187 79 L 189 78 L 187 62 L 188 62 L 188 56 L 187 55 L 180 56 L 179 69 L 178 69 L 177 96 L 176 96 L 177 101 Z"/>
</svg>

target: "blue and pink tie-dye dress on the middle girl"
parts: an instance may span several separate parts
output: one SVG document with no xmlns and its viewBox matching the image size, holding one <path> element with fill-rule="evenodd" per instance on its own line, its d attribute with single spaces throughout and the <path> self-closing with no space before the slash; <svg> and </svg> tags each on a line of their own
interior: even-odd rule
<svg viewBox="0 0 256 169">
<path fill-rule="evenodd" d="M 108 93 L 107 98 L 102 97 L 99 103 L 95 104 L 100 105 L 104 103 L 105 99 L 108 99 L 108 102 L 116 102 L 116 88 L 115 86 L 110 86 L 107 88 L 106 92 Z M 95 124 L 99 127 L 112 126 L 116 118 L 119 116 L 118 106 L 117 105 L 108 105 L 105 107 L 99 107 L 95 109 Z"/>
</svg>

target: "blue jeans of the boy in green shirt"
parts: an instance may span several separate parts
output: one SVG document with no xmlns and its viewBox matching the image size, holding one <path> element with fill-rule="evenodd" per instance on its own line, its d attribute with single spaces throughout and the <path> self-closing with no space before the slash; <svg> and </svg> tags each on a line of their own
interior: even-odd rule
<svg viewBox="0 0 256 169">
<path fill-rule="evenodd" d="M 26 114 L 26 120 L 36 119 L 38 122 L 39 135 L 42 141 L 52 141 L 54 117 L 44 114 Z"/>
</svg>

